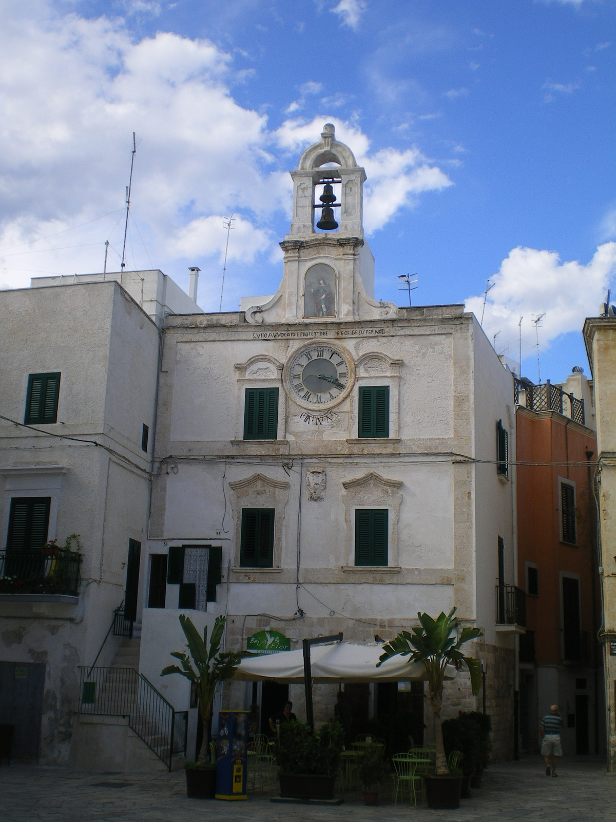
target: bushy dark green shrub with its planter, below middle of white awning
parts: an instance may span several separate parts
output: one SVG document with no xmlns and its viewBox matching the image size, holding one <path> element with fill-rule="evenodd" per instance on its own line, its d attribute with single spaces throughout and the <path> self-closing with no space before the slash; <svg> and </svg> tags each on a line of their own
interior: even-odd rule
<svg viewBox="0 0 616 822">
<path fill-rule="evenodd" d="M 281 797 L 333 799 L 343 742 L 340 723 L 313 732 L 303 723 L 283 723 L 276 751 Z"/>
</svg>

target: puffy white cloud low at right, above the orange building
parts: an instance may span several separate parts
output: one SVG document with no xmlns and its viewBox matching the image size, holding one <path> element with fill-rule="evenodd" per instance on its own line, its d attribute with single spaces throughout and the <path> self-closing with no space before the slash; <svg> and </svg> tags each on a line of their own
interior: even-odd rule
<svg viewBox="0 0 616 822">
<path fill-rule="evenodd" d="M 591 261 L 562 262 L 556 252 L 513 248 L 490 278 L 483 328 L 489 339 L 500 332 L 499 352 L 510 346 L 517 352 L 518 327 L 522 340 L 534 344 L 532 317 L 545 312 L 540 343 L 549 345 L 569 331 L 579 331 L 586 316 L 595 316 L 616 273 L 616 242 L 600 245 Z M 469 297 L 466 309 L 480 319 L 484 297 Z M 522 349 L 522 356 L 523 356 Z"/>
</svg>

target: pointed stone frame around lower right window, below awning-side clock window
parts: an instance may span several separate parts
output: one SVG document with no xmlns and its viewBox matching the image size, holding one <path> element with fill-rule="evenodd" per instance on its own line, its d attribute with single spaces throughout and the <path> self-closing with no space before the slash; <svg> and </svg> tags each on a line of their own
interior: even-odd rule
<svg viewBox="0 0 616 822">
<path fill-rule="evenodd" d="M 344 493 L 344 571 L 363 571 L 396 573 L 398 566 L 398 520 L 404 483 L 401 479 L 387 479 L 375 471 L 369 471 L 361 477 L 349 479 L 342 483 Z M 387 508 L 388 510 L 388 564 L 387 566 L 355 565 L 355 512 L 358 508 Z"/>
</svg>

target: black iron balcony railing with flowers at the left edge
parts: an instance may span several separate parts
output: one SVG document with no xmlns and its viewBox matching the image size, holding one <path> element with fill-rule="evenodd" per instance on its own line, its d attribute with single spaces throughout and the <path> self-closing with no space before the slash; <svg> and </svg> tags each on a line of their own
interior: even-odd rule
<svg viewBox="0 0 616 822">
<path fill-rule="evenodd" d="M 60 551 L 44 556 L 40 551 L 0 552 L 0 593 L 56 593 L 76 596 L 81 575 L 81 554 Z"/>
</svg>

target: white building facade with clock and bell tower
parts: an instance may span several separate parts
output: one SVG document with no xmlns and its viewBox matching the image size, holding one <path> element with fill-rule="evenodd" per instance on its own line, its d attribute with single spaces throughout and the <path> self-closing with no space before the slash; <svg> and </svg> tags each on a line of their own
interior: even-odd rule
<svg viewBox="0 0 616 822">
<path fill-rule="evenodd" d="M 238 313 L 165 321 L 140 671 L 154 681 L 182 647 L 180 612 L 200 627 L 226 613 L 226 648 L 245 649 L 265 628 L 292 647 L 339 631 L 388 640 L 417 612 L 455 606 L 484 631 L 474 653 L 494 755 L 510 757 L 523 628 L 499 614 L 495 585 L 517 583 L 515 467 L 503 452 L 515 453 L 513 376 L 462 306 L 375 300 L 365 172 L 333 126 L 292 178 L 276 293 L 242 299 Z M 322 191 L 338 206 L 321 215 L 337 223 L 323 233 Z M 157 687 L 188 707 L 181 677 Z M 317 722 L 333 716 L 335 690 L 315 687 Z M 301 718 L 301 687 L 289 694 Z M 380 697 L 366 686 L 364 698 L 370 717 Z M 480 698 L 461 673 L 445 714 Z M 222 695 L 264 716 L 269 699 L 244 683 Z"/>
</svg>

